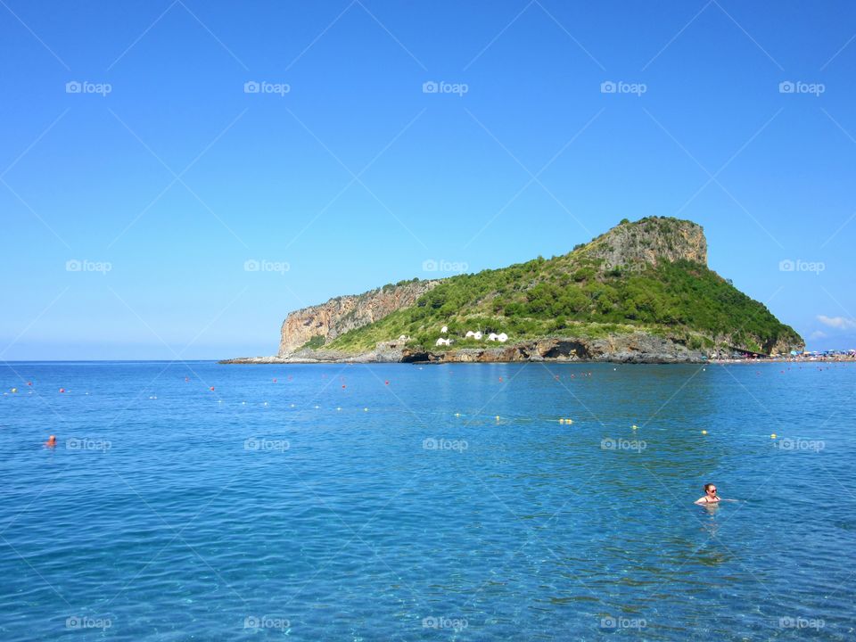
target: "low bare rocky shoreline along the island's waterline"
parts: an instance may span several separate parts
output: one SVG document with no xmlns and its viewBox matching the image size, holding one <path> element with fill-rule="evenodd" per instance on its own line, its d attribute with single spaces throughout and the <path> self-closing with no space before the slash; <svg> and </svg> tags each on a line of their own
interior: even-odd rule
<svg viewBox="0 0 856 642">
<path fill-rule="evenodd" d="M 649 333 L 616 334 L 598 339 L 549 337 L 499 348 L 424 350 L 398 342 L 379 343 L 374 350 L 349 354 L 332 350 L 300 350 L 273 357 L 243 357 L 221 364 L 313 363 L 506 363 L 522 361 L 609 363 L 703 363 L 699 350 Z"/>
</svg>

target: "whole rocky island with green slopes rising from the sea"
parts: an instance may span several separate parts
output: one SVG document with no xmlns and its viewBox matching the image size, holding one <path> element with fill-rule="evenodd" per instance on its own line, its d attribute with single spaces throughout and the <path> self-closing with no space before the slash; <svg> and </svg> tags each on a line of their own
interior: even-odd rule
<svg viewBox="0 0 856 642">
<path fill-rule="evenodd" d="M 615 361 L 759 357 L 804 342 L 707 267 L 701 226 L 621 221 L 552 259 L 401 281 L 290 313 L 272 357 L 221 363 Z"/>
</svg>

